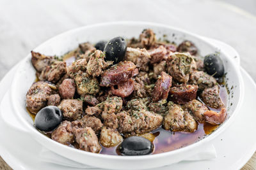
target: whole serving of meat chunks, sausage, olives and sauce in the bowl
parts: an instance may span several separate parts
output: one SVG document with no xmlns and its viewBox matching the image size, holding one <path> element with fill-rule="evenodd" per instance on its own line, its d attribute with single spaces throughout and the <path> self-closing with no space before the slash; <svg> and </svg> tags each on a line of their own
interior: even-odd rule
<svg viewBox="0 0 256 170">
<path fill-rule="evenodd" d="M 175 45 L 145 29 L 138 39 L 86 42 L 63 57 L 31 52 L 37 79 L 26 107 L 40 132 L 87 152 L 146 155 L 188 146 L 227 117 L 223 62 L 198 51 L 191 41 Z"/>
</svg>

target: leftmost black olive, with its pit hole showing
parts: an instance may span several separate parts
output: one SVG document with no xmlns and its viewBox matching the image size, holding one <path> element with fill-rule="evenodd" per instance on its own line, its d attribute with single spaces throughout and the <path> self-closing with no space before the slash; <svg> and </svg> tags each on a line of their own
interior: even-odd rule
<svg viewBox="0 0 256 170">
<path fill-rule="evenodd" d="M 36 114 L 35 127 L 40 131 L 50 132 L 60 125 L 62 119 L 63 114 L 58 107 L 47 106 Z"/>
</svg>

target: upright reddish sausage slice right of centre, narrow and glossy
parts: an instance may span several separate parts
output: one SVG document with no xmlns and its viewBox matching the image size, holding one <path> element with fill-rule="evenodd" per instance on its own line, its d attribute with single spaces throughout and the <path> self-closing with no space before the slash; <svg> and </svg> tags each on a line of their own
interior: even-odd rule
<svg viewBox="0 0 256 170">
<path fill-rule="evenodd" d="M 162 72 L 156 81 L 156 86 L 152 92 L 152 101 L 167 99 L 170 87 L 172 86 L 172 76 Z"/>
</svg>

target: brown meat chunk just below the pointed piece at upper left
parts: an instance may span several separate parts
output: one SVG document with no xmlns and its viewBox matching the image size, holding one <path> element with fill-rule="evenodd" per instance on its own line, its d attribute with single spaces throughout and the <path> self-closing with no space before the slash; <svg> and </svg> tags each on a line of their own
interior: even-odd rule
<svg viewBox="0 0 256 170">
<path fill-rule="evenodd" d="M 66 62 L 55 60 L 51 66 L 46 66 L 43 69 L 38 79 L 57 83 L 65 73 L 67 73 Z"/>
</svg>

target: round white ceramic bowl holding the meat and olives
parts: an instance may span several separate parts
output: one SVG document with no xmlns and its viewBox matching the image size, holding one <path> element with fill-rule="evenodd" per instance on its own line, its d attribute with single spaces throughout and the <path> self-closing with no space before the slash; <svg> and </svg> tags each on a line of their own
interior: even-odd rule
<svg viewBox="0 0 256 170">
<path fill-rule="evenodd" d="M 113 22 L 80 27 L 49 39 L 45 43 L 42 43 L 42 45 L 35 48 L 34 51 L 44 53 L 45 55 L 63 55 L 69 50 L 76 48 L 79 43 L 86 41 L 96 43 L 102 39 L 108 40 L 115 36 L 124 36 L 125 38 L 131 38 L 133 36 L 138 37 L 140 32 L 145 28 L 153 29 L 154 32 L 156 32 L 157 38 L 162 38 L 165 34 L 167 36 L 166 39 L 170 39 L 171 41 L 174 40 L 177 44 L 188 39 L 195 43 L 200 50 L 200 55 L 203 56 L 219 51 L 216 46 L 205 41 L 201 36 L 176 29 L 168 25 L 152 24 L 148 22 Z M 26 59 L 22 60 L 19 68 L 17 69 L 17 73 L 13 78 L 11 89 L 13 108 L 15 110 L 15 115 L 20 120 L 20 123 L 24 125 L 26 131 L 31 134 L 36 141 L 44 145 L 49 150 L 52 150 L 52 152 L 56 152 L 68 159 L 75 160 L 82 164 L 108 169 L 148 169 L 166 166 L 191 157 L 191 155 L 194 155 L 197 150 L 200 150 L 200 148 L 207 145 L 209 141 L 218 136 L 228 127 L 228 125 L 232 123 L 232 120 L 234 120 L 234 117 L 241 106 L 241 101 L 243 99 L 243 80 L 239 72 L 239 64 L 234 61 L 234 56 L 228 56 L 225 52 L 220 51 L 220 57 L 223 60 L 225 72 L 227 72 L 226 77 L 228 89 L 232 89 L 228 97 L 227 120 L 225 120 L 225 122 L 221 124 L 216 131 L 212 132 L 211 135 L 201 141 L 184 148 L 173 150 L 172 152 L 129 157 L 102 155 L 70 148 L 41 134 L 33 126 L 33 120 L 29 117 L 25 108 L 26 92 L 33 81 L 35 81 L 35 69 L 31 64 L 31 54 L 29 54 Z"/>
</svg>

